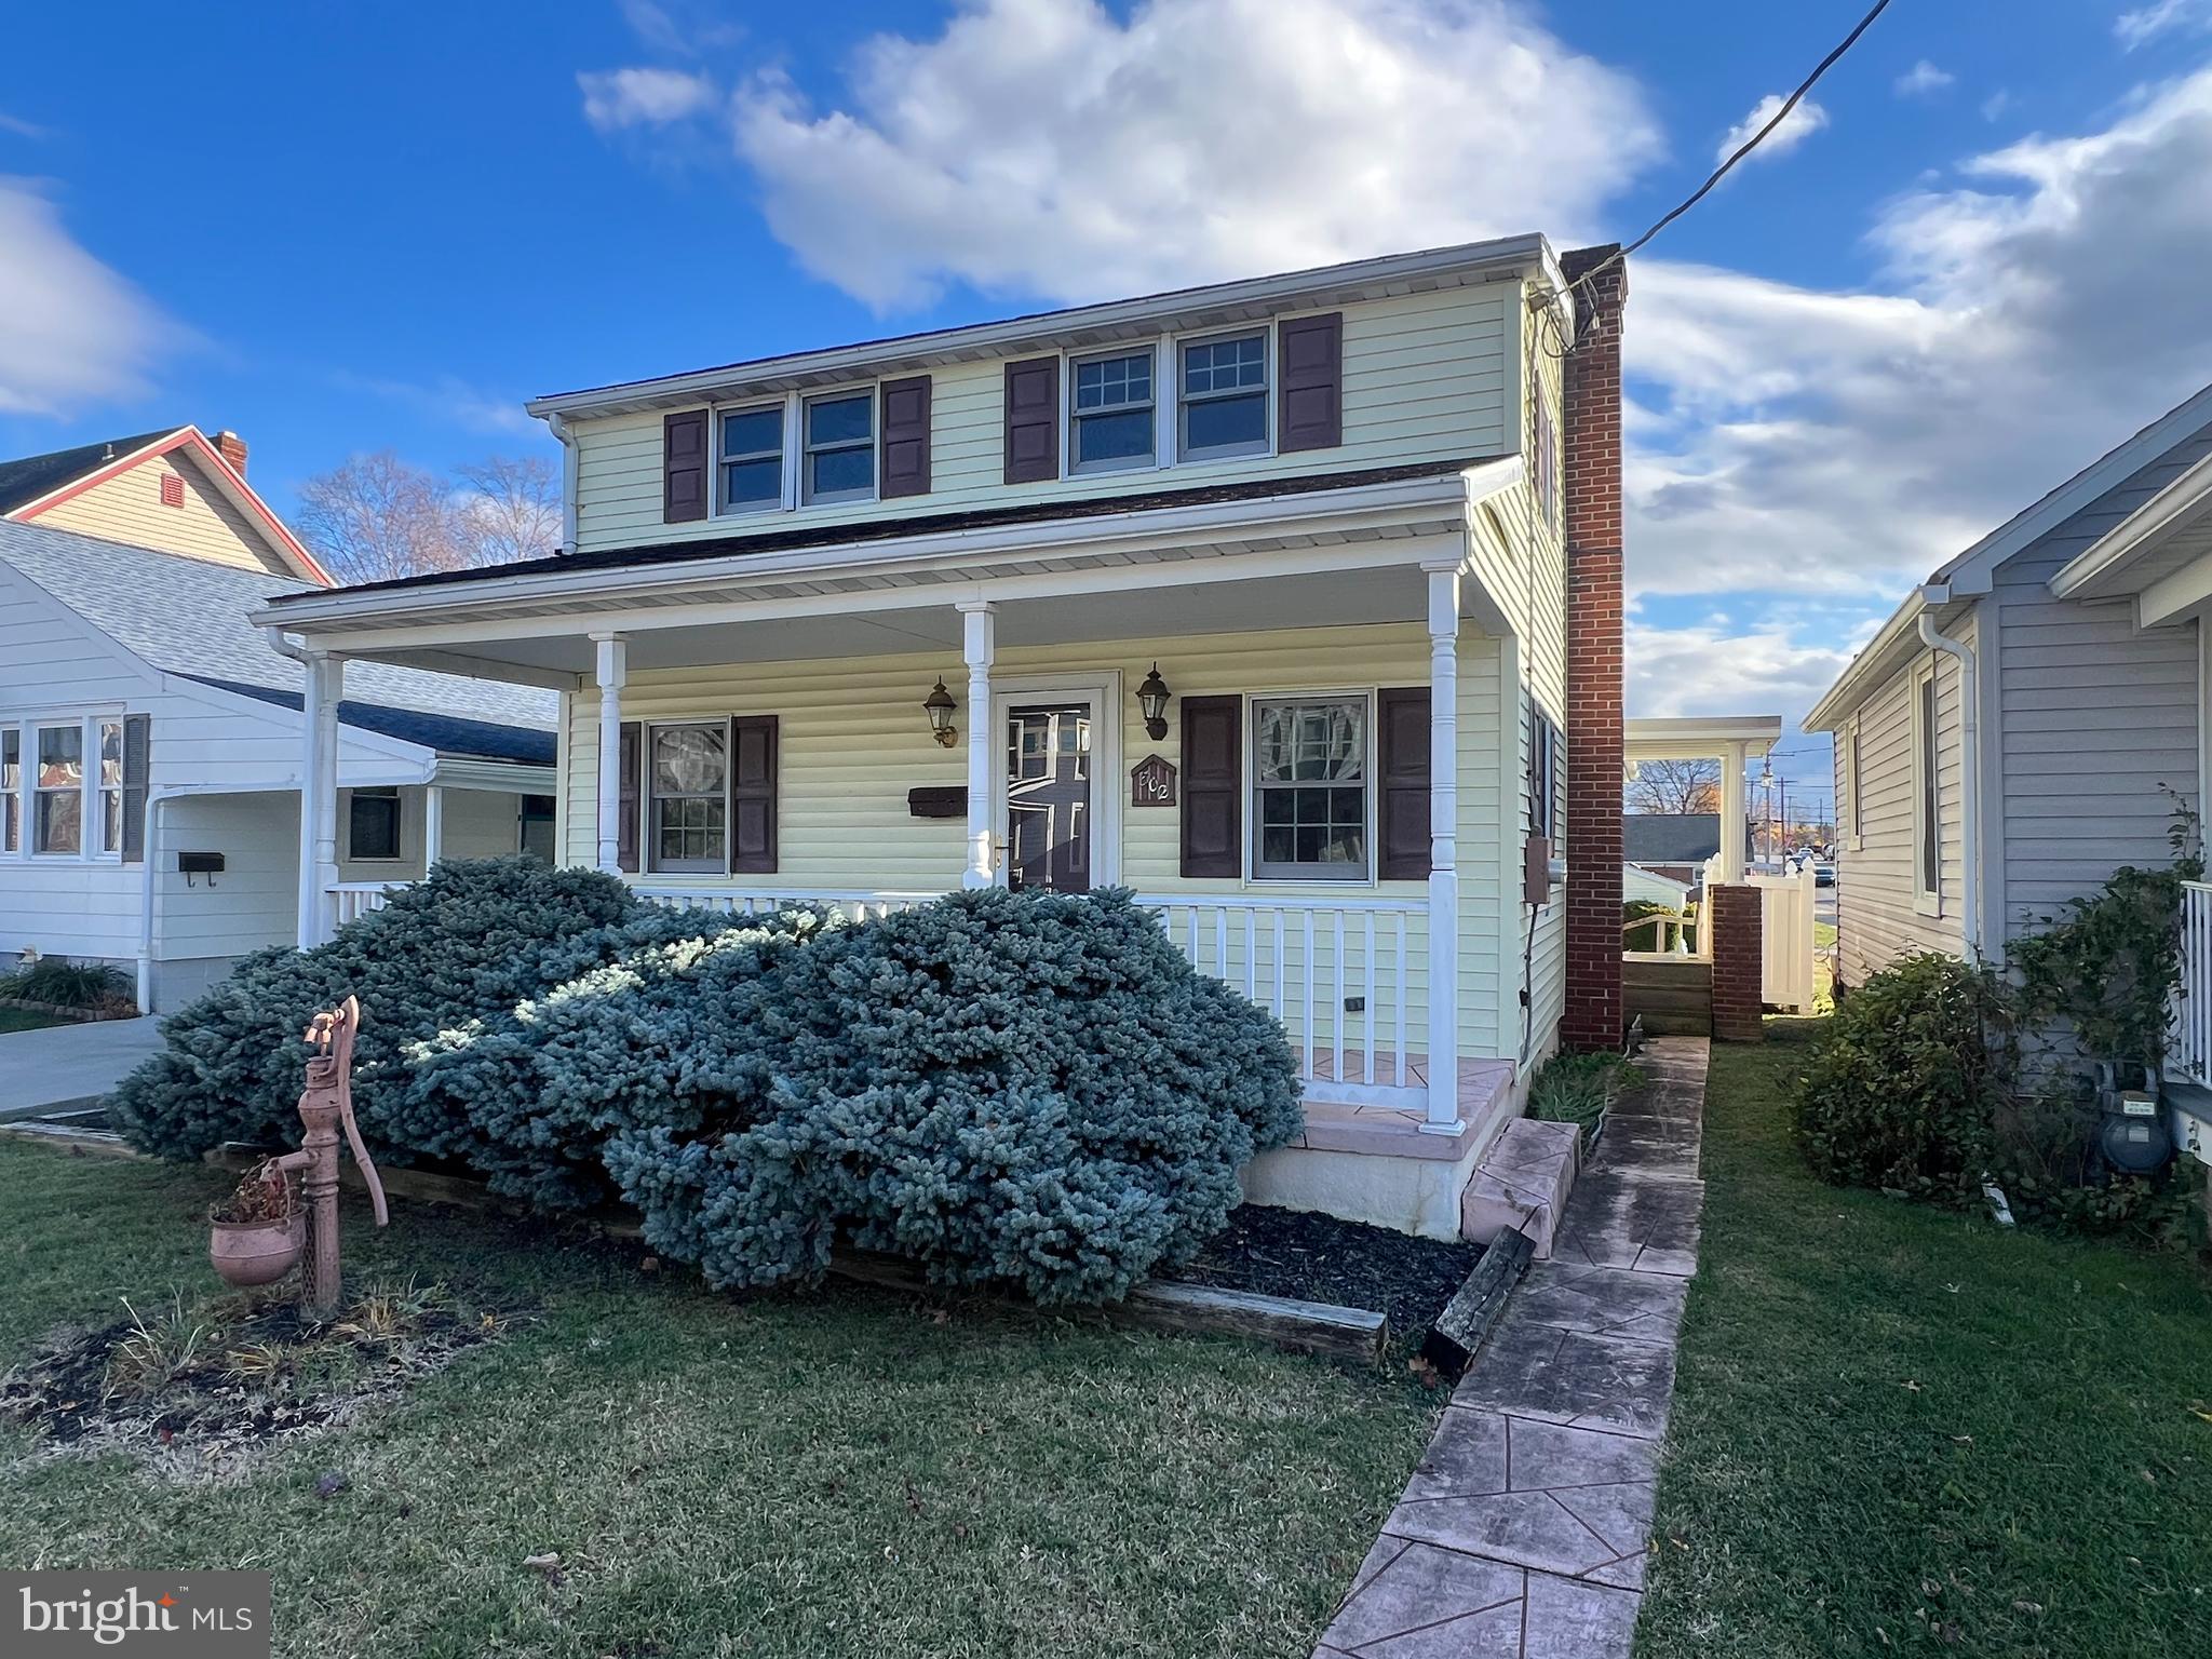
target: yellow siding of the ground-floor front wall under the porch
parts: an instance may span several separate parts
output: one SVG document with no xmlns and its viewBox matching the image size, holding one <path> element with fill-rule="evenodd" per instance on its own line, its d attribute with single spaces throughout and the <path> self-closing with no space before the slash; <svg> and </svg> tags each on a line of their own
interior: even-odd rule
<svg viewBox="0 0 2212 1659">
<path fill-rule="evenodd" d="M 1239 883 L 1190 880 L 1179 874 L 1181 814 L 1170 807 L 1130 807 L 1128 768 L 1148 754 L 1181 763 L 1181 723 L 1168 710 L 1168 737 L 1159 743 L 1144 732 L 1135 688 L 1159 661 L 1175 697 L 1263 695 L 1301 690 L 1374 690 L 1425 686 L 1429 681 L 1429 637 L 1416 624 L 1303 628 L 1281 633 L 1212 635 L 1161 641 L 1108 641 L 1082 646 L 1002 646 L 993 675 L 1121 670 L 1121 774 L 1095 779 L 1095 790 L 1115 790 L 1121 805 L 1121 885 L 1139 894 L 1267 894 L 1283 898 L 1425 898 L 1427 883 Z M 1517 900 L 1517 807 L 1511 834 L 1502 830 L 1509 790 L 1517 790 L 1517 745 L 1500 743 L 1502 695 L 1511 679 L 1502 664 L 1511 653 L 1498 639 L 1460 637 L 1460 1051 L 1495 1055 L 1500 1006 L 1517 1006 L 1520 951 L 1504 947 L 1502 889 L 1511 876 Z M 960 885 L 967 863 L 962 818 L 914 818 L 907 792 L 920 785 L 964 785 L 967 745 L 940 748 L 929 737 L 922 697 L 945 684 L 960 697 L 956 723 L 962 739 L 973 712 L 967 708 L 967 675 L 958 653 L 902 657 L 843 657 L 830 661 L 737 664 L 721 668 L 633 672 L 622 695 L 624 719 L 664 721 L 721 714 L 776 714 L 779 796 L 774 876 L 655 876 L 655 887 L 697 885 L 701 889 L 790 889 L 790 891 L 920 891 Z M 597 799 L 597 695 L 580 690 L 568 699 L 564 732 L 562 823 L 571 863 L 595 856 Z M 1250 734 L 1245 737 L 1250 748 Z M 1506 768 L 1515 770 L 1506 770 Z M 1245 801 L 1250 830 L 1250 801 Z M 1504 847 L 1511 843 L 1511 858 Z M 1517 914 L 1517 911 L 1515 911 Z M 1347 918 L 1352 938 L 1347 991 L 1360 991 L 1360 925 Z M 1385 933 L 1385 938 L 1389 938 Z M 1210 949 L 1210 947 L 1208 947 Z M 1427 971 L 1425 920 L 1407 929 L 1411 953 L 1409 1046 L 1427 1046 L 1422 980 Z M 1513 982 L 1506 984 L 1511 956 Z M 1241 982 L 1241 942 L 1232 951 L 1232 978 Z M 1356 1015 L 1354 1015 L 1356 1020 Z M 1387 1029 L 1378 1031 L 1387 1040 Z M 1513 1035 L 1517 1046 L 1517 1033 Z"/>
</svg>

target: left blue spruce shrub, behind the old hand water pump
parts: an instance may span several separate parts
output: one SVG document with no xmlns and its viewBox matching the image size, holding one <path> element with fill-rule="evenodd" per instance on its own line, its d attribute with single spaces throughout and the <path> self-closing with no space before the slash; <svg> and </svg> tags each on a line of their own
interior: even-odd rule
<svg viewBox="0 0 2212 1659">
<path fill-rule="evenodd" d="M 403 1048 L 511 1009 L 560 982 L 549 973 L 568 978 L 582 936 L 650 929 L 661 916 L 613 876 L 588 869 L 549 869 L 533 858 L 442 863 L 327 945 L 246 958 L 208 995 L 161 1022 L 164 1051 L 122 1082 L 111 1110 L 135 1146 L 161 1157 L 192 1159 L 226 1139 L 290 1144 L 299 1135 L 307 1020 L 354 993 L 365 1013 L 354 1048 L 363 1133 L 429 1155 L 420 1126 L 405 1115 Z"/>
</svg>

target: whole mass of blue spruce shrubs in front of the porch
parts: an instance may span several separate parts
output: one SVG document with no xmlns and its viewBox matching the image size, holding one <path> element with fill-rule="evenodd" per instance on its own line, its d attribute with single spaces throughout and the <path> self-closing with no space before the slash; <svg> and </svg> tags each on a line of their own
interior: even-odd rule
<svg viewBox="0 0 2212 1659">
<path fill-rule="evenodd" d="M 290 1137 L 296 1035 L 349 980 L 372 1137 L 544 1208 L 619 1190 L 717 1285 L 805 1283 L 849 1243 L 1119 1296 L 1217 1232 L 1237 1170 L 1301 1121 L 1281 1026 L 1121 894 L 732 922 L 495 860 L 177 1015 L 126 1133 L 170 1157 Z"/>
</svg>

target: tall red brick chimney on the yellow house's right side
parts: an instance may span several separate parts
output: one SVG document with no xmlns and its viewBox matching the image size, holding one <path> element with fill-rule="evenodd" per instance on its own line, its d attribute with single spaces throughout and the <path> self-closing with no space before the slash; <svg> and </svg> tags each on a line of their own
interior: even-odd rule
<svg viewBox="0 0 2212 1659">
<path fill-rule="evenodd" d="M 1610 265 L 1606 261 L 1613 261 Z M 1575 290 L 1566 358 L 1566 1013 L 1559 1042 L 1621 1042 L 1621 303 L 1619 243 L 1559 257 Z M 1604 270 L 1599 270 L 1604 268 Z M 1597 272 L 1597 274 L 1590 274 Z"/>
</svg>

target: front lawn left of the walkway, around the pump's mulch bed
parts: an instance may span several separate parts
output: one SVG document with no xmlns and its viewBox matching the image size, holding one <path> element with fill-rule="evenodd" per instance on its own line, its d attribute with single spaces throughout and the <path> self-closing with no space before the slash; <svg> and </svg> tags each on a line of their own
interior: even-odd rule
<svg viewBox="0 0 2212 1659">
<path fill-rule="evenodd" d="M 0 1144 L 0 1367 L 208 1285 L 201 1170 Z M 830 1290 L 396 1206 L 358 1272 L 542 1323 L 234 1484 L 0 1429 L 0 1562 L 276 1579 L 285 1655 L 1305 1659 L 1442 1396 L 1239 1343 Z M 338 1495 L 314 1484 L 345 1473 Z M 555 1584 L 526 1555 L 560 1551 Z"/>
</svg>

